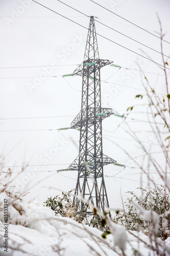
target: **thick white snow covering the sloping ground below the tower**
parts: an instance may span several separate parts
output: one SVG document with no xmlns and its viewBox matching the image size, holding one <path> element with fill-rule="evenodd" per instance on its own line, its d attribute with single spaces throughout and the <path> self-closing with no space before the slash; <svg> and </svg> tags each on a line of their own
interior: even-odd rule
<svg viewBox="0 0 170 256">
<path fill-rule="evenodd" d="M 8 256 L 114 256 L 118 251 L 123 255 L 133 255 L 133 250 L 140 249 L 143 256 L 150 254 L 150 249 L 143 242 L 150 244 L 149 237 L 143 233 L 128 233 L 124 227 L 112 224 L 107 239 L 101 237 L 102 232 L 96 228 L 80 224 L 69 218 L 55 216 L 54 211 L 39 205 L 38 202 L 27 202 L 18 193 L 0 194 L 0 202 L 8 200 L 8 253 L 4 251 L 4 210 L 0 211 L 0 255 Z M 136 237 L 135 237 L 136 236 Z M 132 247 L 127 242 L 130 241 Z M 162 241 L 160 240 L 160 243 Z M 170 240 L 166 240 L 168 250 Z M 120 248 L 120 249 L 119 249 Z M 170 255 L 170 250 L 169 254 Z"/>
</svg>

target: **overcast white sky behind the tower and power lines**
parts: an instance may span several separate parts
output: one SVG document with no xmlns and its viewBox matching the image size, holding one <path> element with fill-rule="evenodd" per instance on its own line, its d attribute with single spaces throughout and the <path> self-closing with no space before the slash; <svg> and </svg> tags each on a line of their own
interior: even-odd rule
<svg viewBox="0 0 170 256">
<path fill-rule="evenodd" d="M 88 28 L 88 17 L 64 6 L 57 0 L 37 0 L 37 2 Z M 132 24 L 126 22 L 126 20 L 104 10 L 90 0 L 63 0 L 63 2 L 87 15 L 98 17 L 96 20 L 140 41 L 142 44 L 160 51 L 160 41 L 158 38 L 134 27 Z M 154 34 L 156 34 L 155 31 L 159 31 L 156 16 L 156 12 L 158 12 L 163 32 L 166 32 L 164 39 L 170 41 L 170 2 L 168 0 L 96 0 L 96 2 Z M 0 41 L 0 77 L 7 78 L 0 79 L 0 130 L 50 130 L 70 126 L 74 116 L 78 114 L 81 108 L 82 79 L 81 77 L 66 77 L 66 80 L 64 80 L 61 75 L 72 73 L 77 66 L 62 66 L 57 68 L 2 68 L 78 65 L 83 61 L 87 30 L 39 6 L 31 0 L 0 0 L 0 16 L 2 34 Z M 162 63 L 160 54 L 137 44 L 137 42 L 97 22 L 95 26 L 97 33 L 143 55 L 140 51 L 140 49 L 142 49 L 155 61 Z M 151 61 L 113 44 L 113 42 L 100 36 L 98 36 L 98 46 L 100 58 L 113 60 L 114 63 L 120 67 L 138 69 L 136 66 L 136 61 L 138 60 L 144 71 L 163 74 Z M 169 55 L 169 45 L 164 42 L 163 47 L 164 54 Z M 101 71 L 101 79 L 106 80 L 116 71 L 117 69 L 112 67 L 103 68 Z M 52 77 L 42 78 L 41 76 L 44 75 L 50 75 Z M 39 78 L 33 78 L 36 76 Z M 14 79 L 13 77 L 32 78 Z M 150 79 L 151 84 L 155 86 L 155 91 L 165 93 L 162 76 L 147 74 L 147 77 Z M 142 89 L 139 72 L 128 71 L 122 68 L 107 81 L 122 83 L 127 87 L 117 88 L 115 84 L 102 82 L 103 107 L 113 108 L 116 113 L 124 114 L 129 106 L 138 103 L 135 100 L 135 95 L 142 93 L 142 91 L 130 89 L 129 87 Z M 2 120 L 3 118 L 54 116 L 64 117 Z M 147 116 L 144 114 L 132 113 L 130 117 L 147 120 Z M 121 129 L 121 126 L 117 129 L 117 125 L 122 122 L 122 120 L 123 119 L 114 116 L 109 117 L 107 120 L 105 119 L 103 121 L 103 128 L 106 131 L 104 130 L 103 134 L 130 139 L 129 135 Z M 148 129 L 147 123 L 131 122 L 130 119 L 128 119 L 127 122 L 131 124 L 133 130 L 147 131 Z M 113 131 L 115 132 L 109 133 Z M 77 142 L 72 143 L 68 141 L 61 133 L 65 138 Z M 32 166 L 27 168 L 27 170 L 37 171 L 66 168 L 78 155 L 79 132 L 68 130 L 61 131 L 61 133 L 56 130 L 0 132 L 0 152 L 5 156 L 4 164 L 6 166 L 22 165 L 23 163 L 38 165 L 37 167 Z M 157 143 L 153 141 L 150 136 L 151 134 L 140 133 L 140 139 L 142 141 L 148 140 Z M 104 154 L 112 157 L 119 163 L 128 165 L 130 159 L 123 151 L 116 147 L 111 140 L 125 148 L 132 156 L 134 156 L 134 154 L 140 154 L 136 142 L 120 138 L 104 137 Z M 153 146 L 152 151 L 159 151 L 159 147 L 156 145 Z M 158 155 L 158 158 L 159 157 Z M 138 159 L 141 160 L 142 158 L 138 157 Z M 48 166 L 39 166 L 42 164 L 48 164 Z M 13 172 L 18 172 L 20 167 L 12 169 Z M 121 167 L 106 166 L 104 168 L 105 175 L 114 175 L 119 172 L 120 169 Z M 138 169 L 127 169 L 126 173 L 122 173 L 122 176 L 118 176 L 119 178 L 125 179 L 115 177 L 105 178 L 111 206 L 117 204 L 117 195 L 119 194 L 120 187 L 123 192 L 125 192 L 135 189 L 140 185 L 140 182 L 138 182 L 140 180 L 139 172 L 140 170 Z M 47 178 L 47 176 L 52 174 L 52 178 Z M 29 195 L 30 198 L 38 195 L 37 198 L 42 201 L 44 201 L 47 196 L 55 196 L 56 193 L 58 194 L 55 190 L 48 190 L 43 186 L 52 186 L 65 191 L 75 188 L 77 179 L 76 172 L 61 173 L 66 177 L 60 174 L 54 174 L 55 173 L 47 172 L 40 172 L 35 176 L 33 176 L 32 173 L 23 174 L 20 178 L 17 178 L 14 185 L 17 184 L 17 186 L 23 188 L 27 180 L 30 180 L 30 184 L 33 184 L 40 179 L 45 179 L 41 184 L 34 187 Z M 156 175 L 154 178 L 155 181 L 159 183 L 159 179 Z"/>
</svg>

